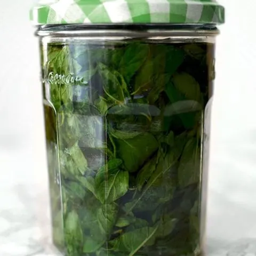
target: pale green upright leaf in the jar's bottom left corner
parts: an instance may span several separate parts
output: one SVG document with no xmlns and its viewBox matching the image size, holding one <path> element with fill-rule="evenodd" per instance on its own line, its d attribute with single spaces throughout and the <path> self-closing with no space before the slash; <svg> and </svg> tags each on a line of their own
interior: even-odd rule
<svg viewBox="0 0 256 256">
<path fill-rule="evenodd" d="M 83 231 L 78 214 L 71 211 L 65 220 L 65 243 L 69 255 L 79 256 L 82 252 Z"/>
</svg>

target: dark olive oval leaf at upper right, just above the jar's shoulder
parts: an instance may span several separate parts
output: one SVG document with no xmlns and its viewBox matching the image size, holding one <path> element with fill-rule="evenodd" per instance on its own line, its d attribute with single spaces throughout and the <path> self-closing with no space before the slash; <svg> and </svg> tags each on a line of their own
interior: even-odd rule
<svg viewBox="0 0 256 256">
<path fill-rule="evenodd" d="M 185 95 L 188 100 L 200 101 L 200 86 L 195 78 L 188 73 L 177 73 L 172 78 L 174 86 Z"/>
</svg>

